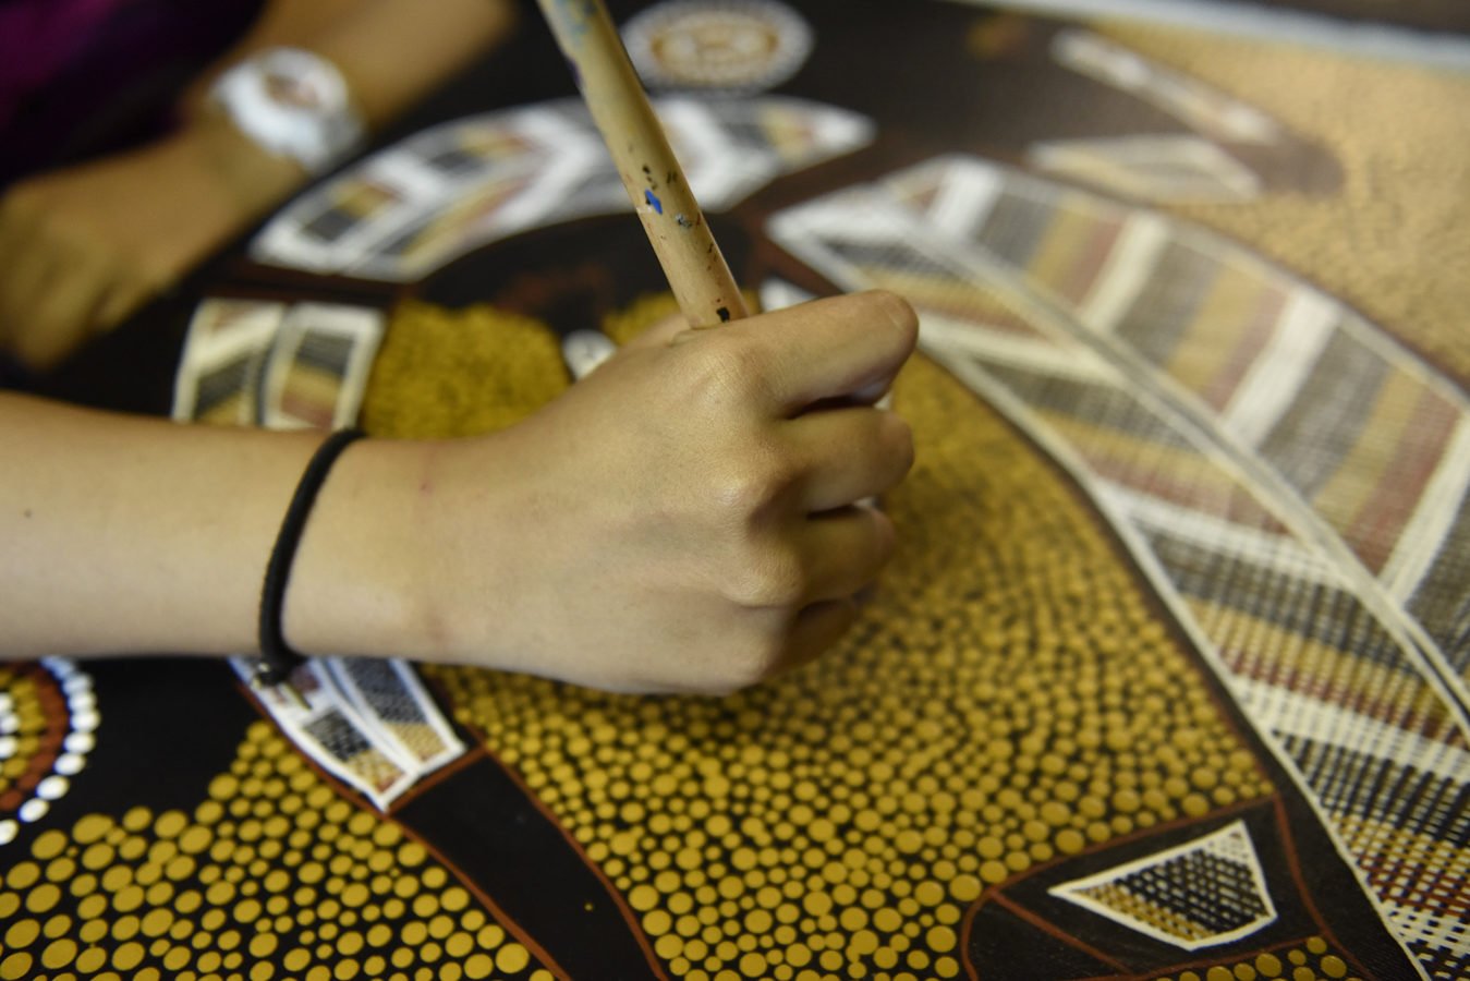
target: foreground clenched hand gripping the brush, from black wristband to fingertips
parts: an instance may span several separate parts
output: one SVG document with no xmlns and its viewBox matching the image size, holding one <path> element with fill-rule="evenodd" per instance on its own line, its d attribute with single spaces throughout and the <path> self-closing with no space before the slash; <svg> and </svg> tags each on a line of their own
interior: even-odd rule
<svg viewBox="0 0 1470 981">
<path fill-rule="evenodd" d="M 916 334 L 888 293 L 675 324 L 507 431 L 417 444 L 412 465 L 353 447 L 297 554 L 287 637 L 639 693 L 723 694 L 801 665 L 894 550 L 889 518 L 858 502 L 913 463 L 907 424 L 873 403 Z M 398 518 L 365 524 L 375 512 Z"/>
</svg>

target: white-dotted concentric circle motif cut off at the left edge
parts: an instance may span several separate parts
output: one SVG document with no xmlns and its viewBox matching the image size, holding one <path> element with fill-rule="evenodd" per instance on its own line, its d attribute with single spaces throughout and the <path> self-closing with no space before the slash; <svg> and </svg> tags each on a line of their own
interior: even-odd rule
<svg viewBox="0 0 1470 981">
<path fill-rule="evenodd" d="M 0 846 L 71 790 L 98 722 L 91 675 L 72 662 L 0 665 Z"/>
</svg>

